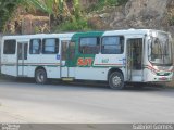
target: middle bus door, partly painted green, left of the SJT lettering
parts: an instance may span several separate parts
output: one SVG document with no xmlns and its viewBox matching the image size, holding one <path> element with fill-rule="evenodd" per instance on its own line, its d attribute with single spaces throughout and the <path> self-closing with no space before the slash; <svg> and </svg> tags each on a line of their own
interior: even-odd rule
<svg viewBox="0 0 174 130">
<path fill-rule="evenodd" d="M 61 42 L 61 78 L 74 78 L 75 76 L 75 42 Z"/>
</svg>

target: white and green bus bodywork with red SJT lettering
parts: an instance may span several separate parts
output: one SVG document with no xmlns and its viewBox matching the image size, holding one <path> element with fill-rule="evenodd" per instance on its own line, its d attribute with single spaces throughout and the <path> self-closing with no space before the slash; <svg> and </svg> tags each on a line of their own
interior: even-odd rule
<svg viewBox="0 0 174 130">
<path fill-rule="evenodd" d="M 173 76 L 172 65 L 160 68 L 160 66 L 152 65 L 149 61 L 149 53 L 151 52 L 149 51 L 149 42 L 151 37 L 158 32 L 163 31 L 129 29 L 4 36 L 1 43 L 1 73 L 14 77 L 35 77 L 36 70 L 44 68 L 47 73 L 47 78 L 107 81 L 112 70 L 119 70 L 123 74 L 126 82 L 171 81 Z M 114 47 L 117 50 L 123 48 L 123 52 L 116 54 L 103 52 L 104 49 L 112 49 L 109 47 L 112 44 L 104 46 L 104 40 L 112 41 L 114 37 L 123 40 L 123 47 L 122 44 Z M 4 40 L 9 39 L 16 40 L 14 54 L 3 53 Z M 32 39 L 41 40 L 41 51 L 45 39 L 59 39 L 59 51 L 53 54 L 44 54 L 42 52 L 32 54 Z M 91 46 L 94 41 L 96 42 L 96 50 Z M 84 46 L 84 42 L 89 44 L 88 48 Z M 20 47 L 22 43 L 27 44 L 27 51 L 24 50 L 26 47 Z M 18 51 L 20 48 L 23 51 Z M 51 47 L 48 46 L 48 48 Z M 87 50 L 88 53 L 84 50 Z M 24 53 L 27 53 L 27 57 L 23 56 Z M 23 57 L 22 60 L 20 54 Z"/>
</svg>

